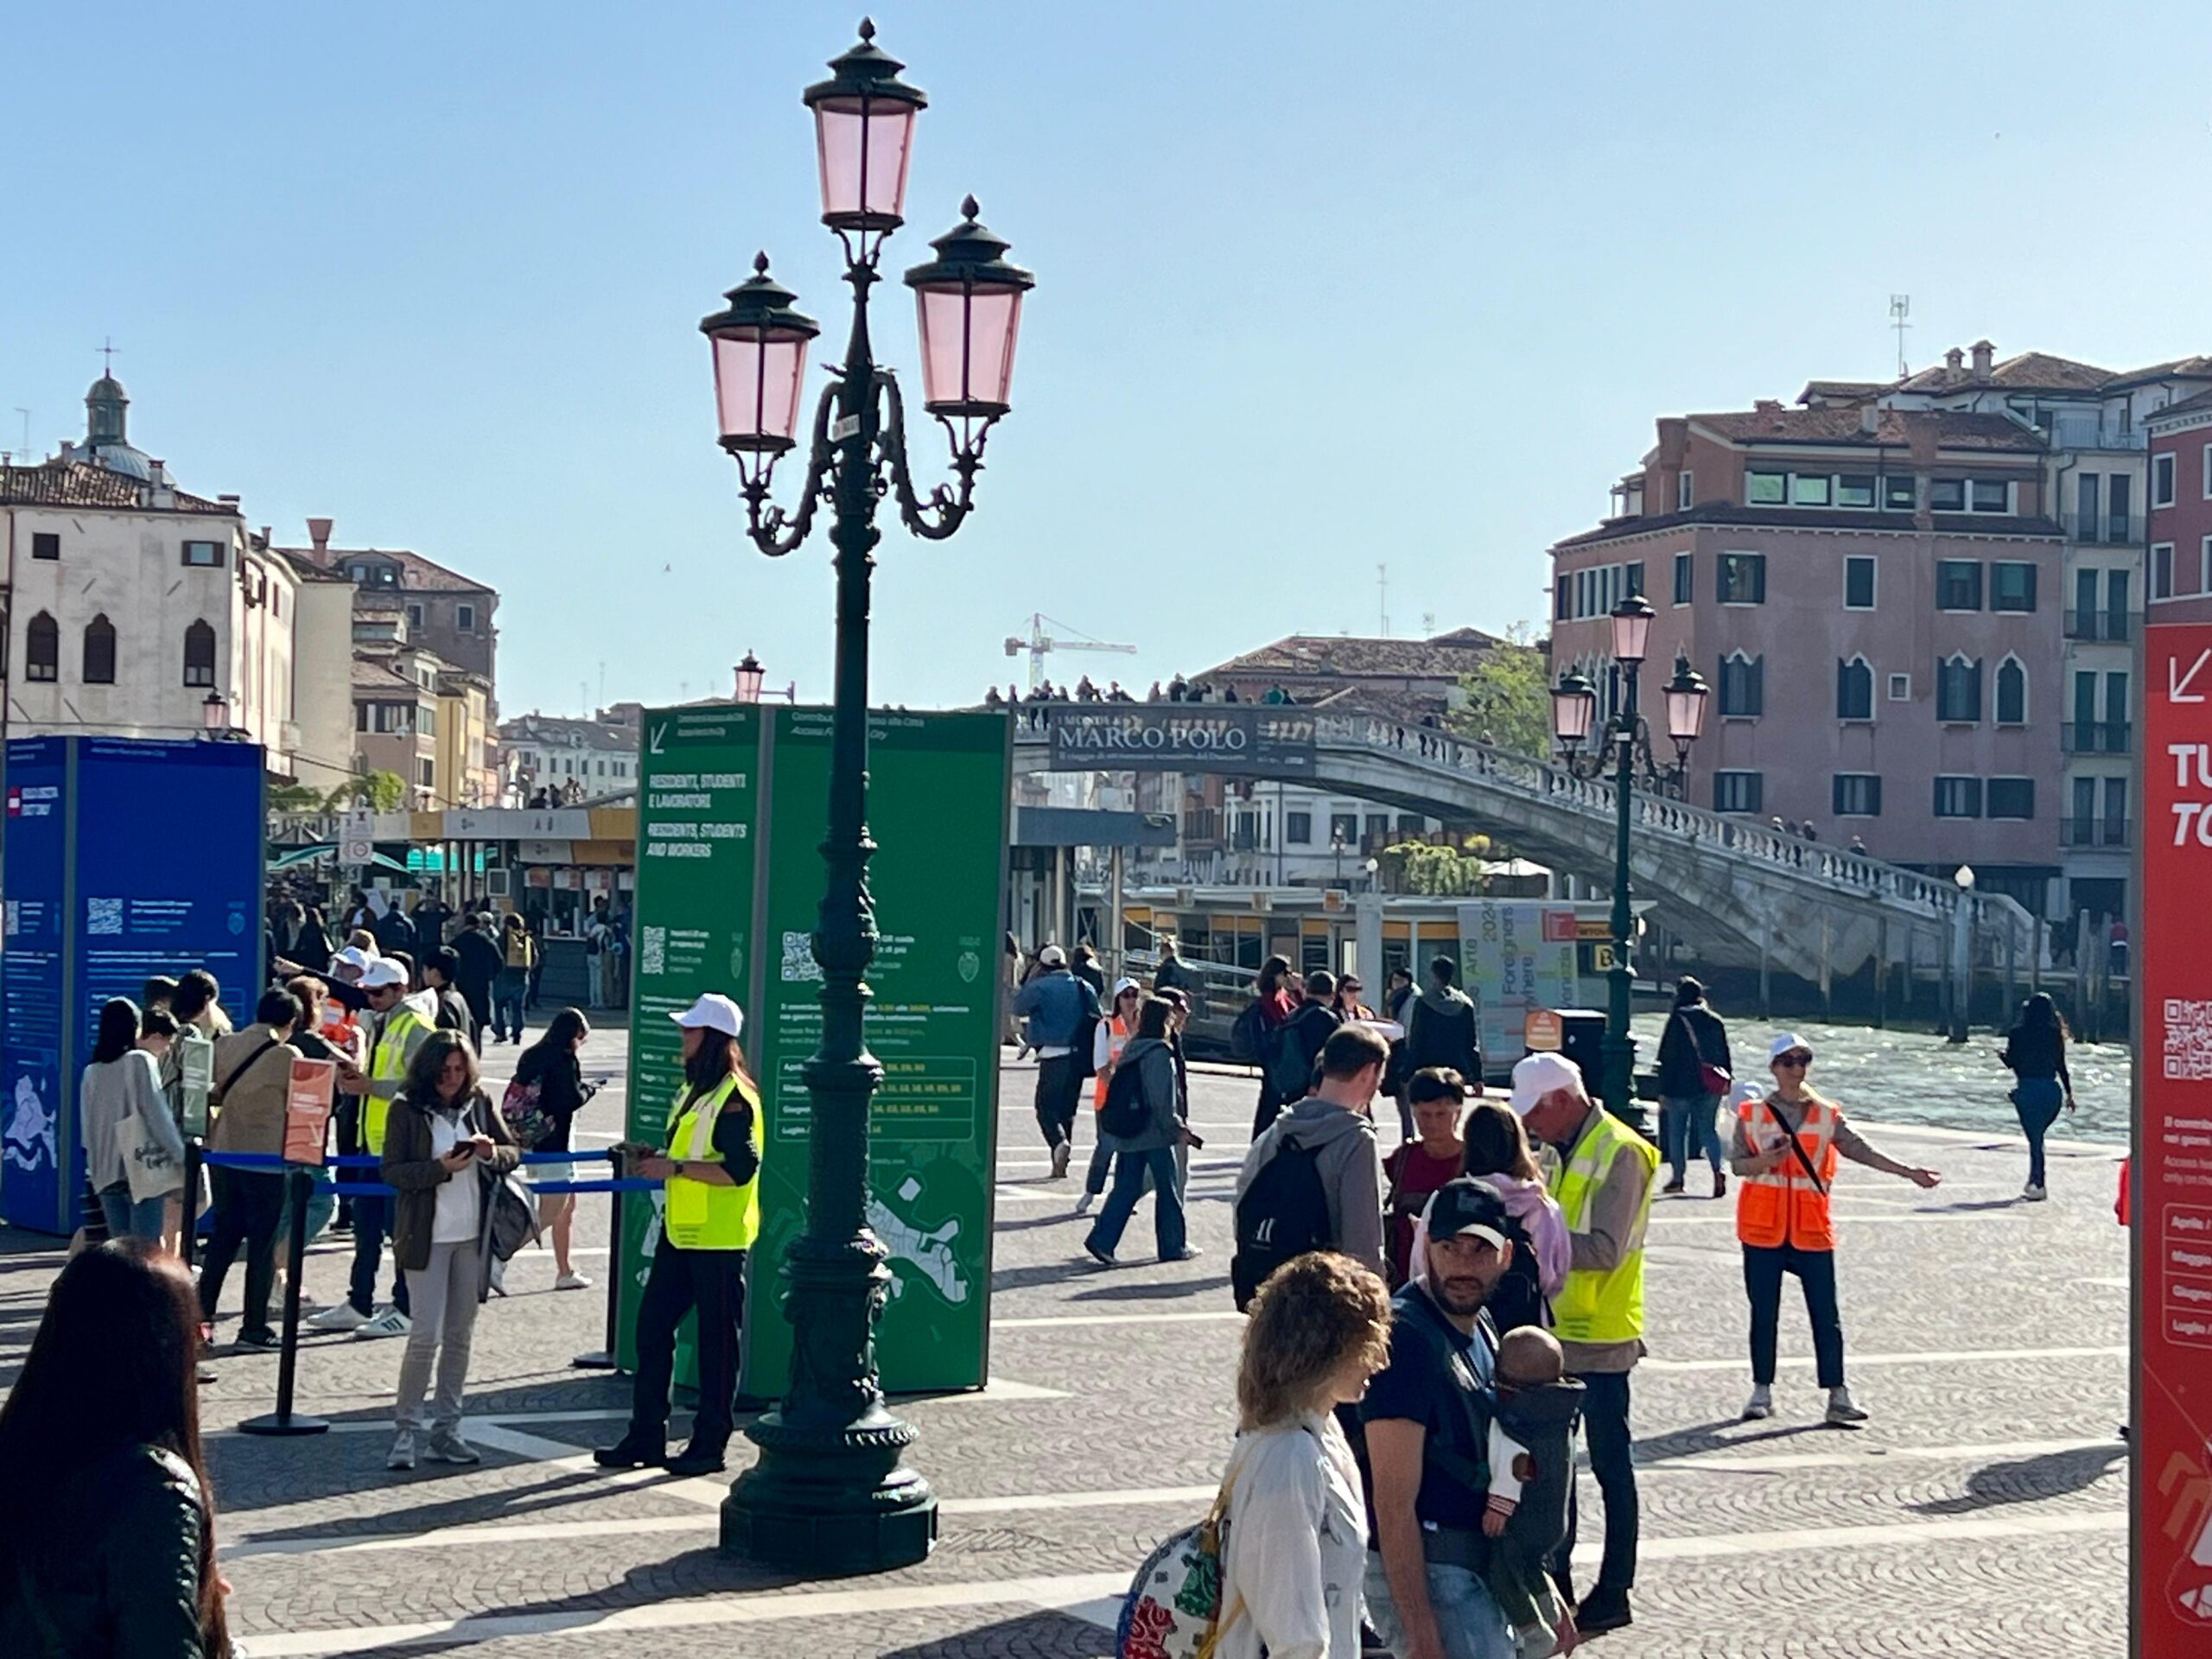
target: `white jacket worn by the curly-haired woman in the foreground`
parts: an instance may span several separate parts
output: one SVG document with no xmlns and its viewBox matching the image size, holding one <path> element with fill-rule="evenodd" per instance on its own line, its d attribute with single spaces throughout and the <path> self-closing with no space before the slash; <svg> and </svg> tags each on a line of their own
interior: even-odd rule
<svg viewBox="0 0 2212 1659">
<path fill-rule="evenodd" d="M 1307 1413 L 1237 1436 L 1217 1659 L 1358 1659 L 1367 1502 L 1345 1431 Z"/>
</svg>

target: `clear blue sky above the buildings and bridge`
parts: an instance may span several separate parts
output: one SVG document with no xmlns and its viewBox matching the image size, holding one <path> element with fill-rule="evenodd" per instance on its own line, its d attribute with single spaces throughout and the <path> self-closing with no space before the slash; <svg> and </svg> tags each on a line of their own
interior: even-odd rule
<svg viewBox="0 0 2212 1659">
<path fill-rule="evenodd" d="M 827 692 L 825 544 L 770 564 L 697 319 L 768 248 L 834 338 L 799 91 L 825 4 L 22 7 L 0 69 L 0 442 L 131 434 L 254 524 L 504 593 L 500 692 Z M 1986 334 L 2212 349 L 2212 7 L 876 9 L 927 88 L 909 228 L 962 192 L 1037 272 L 956 540 L 896 526 L 883 701 L 973 697 L 1031 611 L 1139 686 L 1290 630 L 1542 615 L 1655 414 Z M 911 376 L 889 294 L 878 345 Z M 827 356 L 827 354 L 823 354 Z M 940 465 L 922 434 L 927 469 Z M 666 566 L 666 568 L 664 568 Z"/>
</svg>

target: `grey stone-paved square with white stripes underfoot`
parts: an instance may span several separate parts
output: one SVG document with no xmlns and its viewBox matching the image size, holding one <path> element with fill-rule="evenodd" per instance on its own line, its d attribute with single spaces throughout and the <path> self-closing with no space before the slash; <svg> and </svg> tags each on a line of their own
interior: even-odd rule
<svg viewBox="0 0 2212 1659">
<path fill-rule="evenodd" d="M 619 1075 L 622 1040 L 595 1035 L 591 1071 Z M 478 1325 L 469 1433 L 482 1469 L 383 1469 L 398 1343 L 303 1349 L 301 1405 L 334 1418 L 314 1440 L 237 1436 L 239 1418 L 270 1407 L 276 1360 L 217 1360 L 204 1418 L 232 1628 L 263 1659 L 1106 1655 L 1137 1559 L 1203 1511 L 1230 1440 L 1228 1194 L 1252 1084 L 1194 1079 L 1208 1148 L 1192 1170 L 1192 1241 L 1206 1254 L 1113 1274 L 1079 1259 L 1079 1183 L 1048 1181 L 1031 1086 L 1031 1068 L 1006 1068 L 993 1387 L 902 1405 L 922 1431 L 916 1462 L 945 1498 L 929 1562 L 869 1579 L 765 1573 L 714 1551 L 726 1480 L 591 1469 L 584 1449 L 617 1431 L 626 1383 L 568 1358 L 599 1345 L 604 1303 L 597 1290 L 553 1292 L 551 1261 L 529 1256 Z M 615 1139 L 619 1110 L 619 1088 L 595 1104 L 597 1144 Z M 2124 1648 L 2112 1150 L 2059 1150 L 2053 1201 L 2024 1206 L 2013 1146 L 1865 1128 L 1947 1183 L 1922 1194 L 1845 1166 L 1845 1325 L 1854 1389 L 1874 1411 L 1863 1431 L 1818 1427 L 1796 1305 L 1776 1420 L 1736 1422 L 1747 1367 L 1730 1206 L 1663 1199 L 1655 1212 L 1652 1358 L 1635 1385 L 1637 1624 L 1604 1637 L 1601 1659 Z M 1690 1186 L 1701 1192 L 1703 1177 Z M 1146 1228 L 1139 1210 L 1124 1256 L 1141 1256 Z M 604 1283 L 604 1201 L 586 1199 L 580 1241 Z M 9 1243 L 0 1378 L 13 1378 L 60 1261 L 20 1234 Z M 343 1270 L 343 1248 L 321 1250 L 310 1292 L 336 1298 Z"/>
</svg>

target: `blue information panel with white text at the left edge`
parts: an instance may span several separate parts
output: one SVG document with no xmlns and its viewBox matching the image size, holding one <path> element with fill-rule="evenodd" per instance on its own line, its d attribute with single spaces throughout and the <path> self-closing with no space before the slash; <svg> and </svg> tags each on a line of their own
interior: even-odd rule
<svg viewBox="0 0 2212 1659">
<path fill-rule="evenodd" d="M 71 1232 L 75 1079 L 100 1006 L 155 973 L 261 991 L 263 752 L 254 743 L 18 739 L 7 754 L 0 1217 Z"/>
</svg>

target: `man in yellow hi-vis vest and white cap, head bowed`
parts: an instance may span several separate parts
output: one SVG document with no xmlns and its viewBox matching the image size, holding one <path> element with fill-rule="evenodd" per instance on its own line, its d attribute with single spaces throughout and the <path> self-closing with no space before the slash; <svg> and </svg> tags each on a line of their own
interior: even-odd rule
<svg viewBox="0 0 2212 1659">
<path fill-rule="evenodd" d="M 1575 1628 L 1584 1635 L 1630 1621 L 1628 1590 L 1637 1579 L 1637 1467 L 1628 1431 L 1628 1374 L 1644 1356 L 1644 1228 L 1652 1210 L 1659 1148 L 1606 1113 L 1564 1055 L 1535 1053 L 1513 1066 L 1513 1110 L 1531 1141 L 1557 1152 L 1551 1197 L 1566 1217 L 1573 1265 L 1553 1301 L 1553 1334 L 1566 1369 L 1582 1378 L 1582 1425 L 1590 1473 L 1606 1500 L 1606 1559 L 1582 1597 Z M 1553 1575 L 1573 1586 L 1575 1506 Z"/>
</svg>

